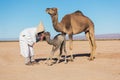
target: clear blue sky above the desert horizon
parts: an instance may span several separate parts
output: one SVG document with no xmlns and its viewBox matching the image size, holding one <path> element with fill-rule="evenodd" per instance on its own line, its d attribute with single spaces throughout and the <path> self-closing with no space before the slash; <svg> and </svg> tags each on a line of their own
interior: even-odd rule
<svg viewBox="0 0 120 80">
<path fill-rule="evenodd" d="M 0 0 L 0 39 L 18 38 L 40 21 L 52 36 L 58 34 L 46 8 L 57 7 L 61 21 L 66 14 L 80 10 L 95 24 L 95 34 L 120 33 L 120 0 Z"/>
</svg>

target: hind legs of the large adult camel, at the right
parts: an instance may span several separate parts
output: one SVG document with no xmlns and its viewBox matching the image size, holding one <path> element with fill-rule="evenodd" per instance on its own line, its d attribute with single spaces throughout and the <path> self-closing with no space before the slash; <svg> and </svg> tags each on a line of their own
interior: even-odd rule
<svg viewBox="0 0 120 80">
<path fill-rule="evenodd" d="M 96 50 L 96 43 L 95 43 L 95 37 L 94 37 L 94 32 L 93 30 L 90 32 L 86 32 L 86 37 L 89 41 L 90 47 L 91 47 L 91 54 L 89 60 L 94 60 L 95 58 L 95 50 Z"/>
</svg>

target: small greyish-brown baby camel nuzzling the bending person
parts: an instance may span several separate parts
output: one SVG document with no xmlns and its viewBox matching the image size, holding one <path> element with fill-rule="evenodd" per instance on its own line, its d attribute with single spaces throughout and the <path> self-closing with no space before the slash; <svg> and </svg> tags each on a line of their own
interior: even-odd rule
<svg viewBox="0 0 120 80">
<path fill-rule="evenodd" d="M 53 40 L 51 40 L 49 32 L 45 32 L 44 34 L 45 34 L 45 38 L 46 38 L 47 43 L 50 45 L 53 45 L 52 51 L 50 53 L 50 56 L 47 58 L 46 63 L 48 65 L 52 65 L 51 64 L 52 57 L 53 57 L 55 51 L 57 51 L 58 49 L 60 50 L 60 54 L 58 56 L 57 63 L 59 63 L 63 48 L 64 48 L 64 52 L 65 52 L 65 63 L 67 63 L 67 61 L 66 61 L 67 52 L 66 52 L 66 47 L 65 47 L 65 44 L 66 44 L 65 35 L 58 34 L 53 38 Z M 50 64 L 48 63 L 49 60 L 50 60 Z"/>
</svg>

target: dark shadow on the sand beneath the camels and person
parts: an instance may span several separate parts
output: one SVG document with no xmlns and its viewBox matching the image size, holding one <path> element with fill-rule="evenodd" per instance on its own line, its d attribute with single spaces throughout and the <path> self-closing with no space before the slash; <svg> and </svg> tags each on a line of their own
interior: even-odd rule
<svg viewBox="0 0 120 80">
<path fill-rule="evenodd" d="M 67 55 L 67 61 L 68 62 L 70 61 L 70 59 L 69 59 L 70 57 L 71 57 L 71 55 Z M 90 53 L 76 53 L 76 54 L 73 54 L 73 59 L 78 58 L 78 57 L 90 57 Z M 59 63 L 65 61 L 65 59 L 64 59 L 65 55 L 62 55 L 61 58 L 62 59 L 60 59 Z M 38 58 L 38 59 L 35 59 L 36 62 L 46 61 L 46 60 L 47 60 L 47 58 Z M 57 58 L 52 58 L 52 60 L 54 60 L 55 63 L 56 63 L 58 59 Z"/>
</svg>

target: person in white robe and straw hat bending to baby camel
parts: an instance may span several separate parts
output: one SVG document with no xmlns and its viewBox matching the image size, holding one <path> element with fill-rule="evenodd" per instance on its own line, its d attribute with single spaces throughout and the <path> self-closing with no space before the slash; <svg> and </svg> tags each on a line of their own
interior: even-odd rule
<svg viewBox="0 0 120 80">
<path fill-rule="evenodd" d="M 36 42 L 43 40 L 44 26 L 42 23 L 38 27 L 24 29 L 20 33 L 19 43 L 21 55 L 25 58 L 25 64 L 31 65 L 36 63 L 34 59 L 33 46 Z"/>
</svg>

